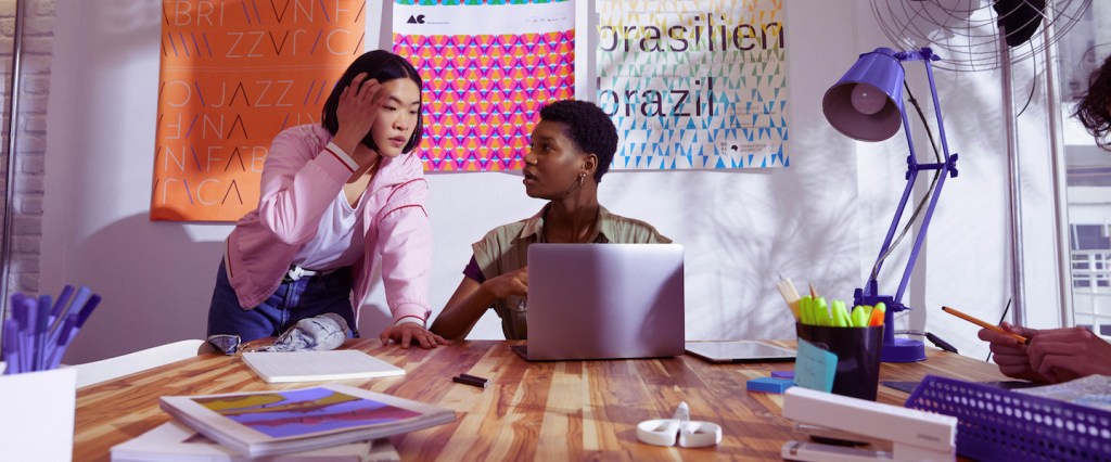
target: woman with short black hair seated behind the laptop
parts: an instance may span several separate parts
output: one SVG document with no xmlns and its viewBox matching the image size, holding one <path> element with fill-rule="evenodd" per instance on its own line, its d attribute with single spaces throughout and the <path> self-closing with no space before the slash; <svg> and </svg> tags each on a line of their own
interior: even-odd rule
<svg viewBox="0 0 1111 462">
<path fill-rule="evenodd" d="M 548 203 L 531 218 L 498 227 L 471 245 L 447 307 L 432 332 L 463 339 L 493 308 L 506 339 L 528 338 L 528 250 L 537 242 L 668 243 L 652 225 L 610 213 L 598 203 L 598 183 L 617 152 L 613 122 L 587 101 L 557 101 L 540 110 L 524 157 L 524 192 Z"/>
</svg>

